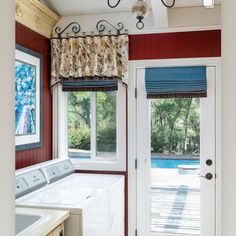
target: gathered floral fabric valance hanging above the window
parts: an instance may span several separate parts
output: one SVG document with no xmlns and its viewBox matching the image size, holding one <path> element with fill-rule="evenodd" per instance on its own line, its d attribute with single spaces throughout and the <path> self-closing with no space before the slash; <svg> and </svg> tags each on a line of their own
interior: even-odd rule
<svg viewBox="0 0 236 236">
<path fill-rule="evenodd" d="M 128 45 L 126 34 L 52 38 L 51 86 L 113 79 L 127 84 Z"/>
</svg>

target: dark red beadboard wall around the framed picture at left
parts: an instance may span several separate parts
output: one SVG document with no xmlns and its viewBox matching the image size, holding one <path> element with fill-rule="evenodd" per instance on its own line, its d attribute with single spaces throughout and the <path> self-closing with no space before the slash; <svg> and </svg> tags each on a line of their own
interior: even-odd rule
<svg viewBox="0 0 236 236">
<path fill-rule="evenodd" d="M 50 160 L 52 158 L 52 96 L 49 89 L 50 41 L 42 35 L 16 22 L 16 43 L 43 56 L 43 145 L 41 148 L 16 152 L 16 169 Z"/>
</svg>

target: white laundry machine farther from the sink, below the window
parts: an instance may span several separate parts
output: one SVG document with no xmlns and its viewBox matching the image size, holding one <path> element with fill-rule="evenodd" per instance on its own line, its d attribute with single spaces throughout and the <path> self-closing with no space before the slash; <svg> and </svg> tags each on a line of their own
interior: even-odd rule
<svg viewBox="0 0 236 236">
<path fill-rule="evenodd" d="M 60 169 L 69 169 L 67 166 L 68 163 L 73 166 L 70 160 L 60 161 L 58 164 L 56 164 L 55 161 L 45 163 L 43 170 L 46 172 L 46 176 L 48 176 L 48 182 L 53 183 L 57 179 L 56 173 L 58 173 Z M 63 165 L 65 166 L 62 167 Z M 57 186 L 61 186 L 62 188 L 71 186 L 105 189 L 107 196 L 109 235 L 124 235 L 124 176 L 70 173 L 60 181 L 57 181 Z"/>
</svg>

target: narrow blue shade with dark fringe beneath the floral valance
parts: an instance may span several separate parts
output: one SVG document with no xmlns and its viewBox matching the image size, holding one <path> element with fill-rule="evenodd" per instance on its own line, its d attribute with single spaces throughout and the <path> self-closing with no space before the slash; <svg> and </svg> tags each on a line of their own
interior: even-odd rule
<svg viewBox="0 0 236 236">
<path fill-rule="evenodd" d="M 62 91 L 115 91 L 118 90 L 118 80 L 83 80 L 62 81 Z"/>
</svg>

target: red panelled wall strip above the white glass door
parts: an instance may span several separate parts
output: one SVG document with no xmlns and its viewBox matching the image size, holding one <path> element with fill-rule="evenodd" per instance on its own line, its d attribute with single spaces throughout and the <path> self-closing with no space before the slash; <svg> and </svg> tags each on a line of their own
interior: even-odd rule
<svg viewBox="0 0 236 236">
<path fill-rule="evenodd" d="M 130 60 L 219 57 L 220 55 L 220 30 L 130 36 Z"/>
</svg>

